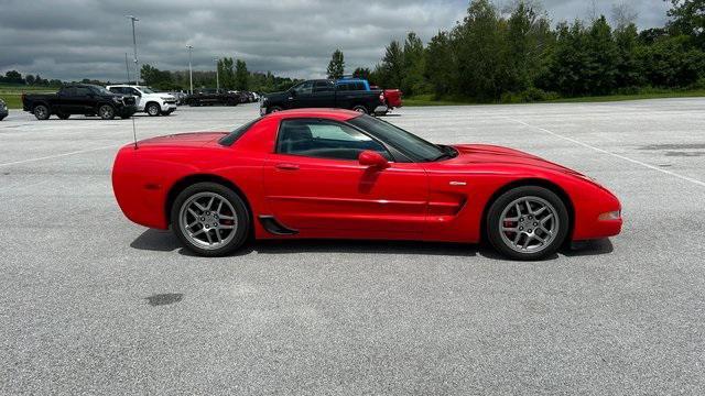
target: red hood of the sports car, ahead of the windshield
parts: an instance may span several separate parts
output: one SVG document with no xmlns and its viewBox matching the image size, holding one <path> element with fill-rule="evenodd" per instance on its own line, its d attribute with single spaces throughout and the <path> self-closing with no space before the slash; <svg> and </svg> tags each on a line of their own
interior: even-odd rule
<svg viewBox="0 0 705 396">
<path fill-rule="evenodd" d="M 453 164 L 528 165 L 583 176 L 576 170 L 519 150 L 488 144 L 458 144 L 453 147 L 458 151 L 458 156 L 448 161 Z"/>
</svg>

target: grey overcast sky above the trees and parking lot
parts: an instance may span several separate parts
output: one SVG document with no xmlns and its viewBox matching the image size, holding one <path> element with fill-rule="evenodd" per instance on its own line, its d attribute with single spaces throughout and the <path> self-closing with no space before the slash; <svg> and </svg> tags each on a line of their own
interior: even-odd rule
<svg viewBox="0 0 705 396">
<path fill-rule="evenodd" d="M 513 0 L 495 0 L 505 7 Z M 662 0 L 595 0 L 610 15 L 626 2 L 640 29 L 662 25 Z M 588 18 L 593 0 L 543 0 L 554 22 Z M 247 61 L 250 70 L 321 77 L 339 47 L 346 73 L 372 67 L 392 38 L 414 31 L 426 42 L 462 20 L 460 0 L 0 0 L 0 73 L 18 69 L 61 79 L 124 79 L 132 56 L 126 14 L 140 18 L 138 57 L 161 69 L 185 69 L 186 45 L 194 68 L 213 69 L 214 57 Z"/>
</svg>

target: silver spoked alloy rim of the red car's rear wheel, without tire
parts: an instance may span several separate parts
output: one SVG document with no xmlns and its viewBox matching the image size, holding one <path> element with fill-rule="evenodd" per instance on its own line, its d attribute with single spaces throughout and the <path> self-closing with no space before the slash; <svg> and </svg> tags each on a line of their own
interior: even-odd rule
<svg viewBox="0 0 705 396">
<path fill-rule="evenodd" d="M 232 205 L 216 193 L 189 197 L 178 211 L 178 227 L 188 242 L 205 250 L 230 243 L 238 228 Z"/>
</svg>

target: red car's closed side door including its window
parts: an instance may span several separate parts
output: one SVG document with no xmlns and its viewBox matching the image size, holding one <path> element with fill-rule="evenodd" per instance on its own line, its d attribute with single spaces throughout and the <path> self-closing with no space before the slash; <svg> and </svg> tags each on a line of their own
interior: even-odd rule
<svg viewBox="0 0 705 396">
<path fill-rule="evenodd" d="M 389 158 L 389 166 L 361 165 L 357 158 L 366 150 Z M 421 166 L 393 162 L 381 143 L 329 120 L 283 120 L 264 165 L 269 208 L 295 230 L 421 233 L 427 189 Z"/>
</svg>

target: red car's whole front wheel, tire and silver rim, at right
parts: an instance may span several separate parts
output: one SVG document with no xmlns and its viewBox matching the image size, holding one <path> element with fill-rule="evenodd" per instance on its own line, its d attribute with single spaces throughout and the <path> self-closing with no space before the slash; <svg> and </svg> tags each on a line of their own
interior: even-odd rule
<svg viewBox="0 0 705 396">
<path fill-rule="evenodd" d="M 487 212 L 487 237 L 503 255 L 541 260 L 555 253 L 568 234 L 568 212 L 563 200 L 539 186 L 502 194 Z"/>
</svg>

